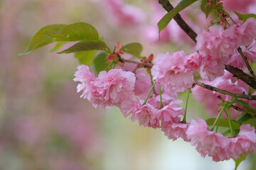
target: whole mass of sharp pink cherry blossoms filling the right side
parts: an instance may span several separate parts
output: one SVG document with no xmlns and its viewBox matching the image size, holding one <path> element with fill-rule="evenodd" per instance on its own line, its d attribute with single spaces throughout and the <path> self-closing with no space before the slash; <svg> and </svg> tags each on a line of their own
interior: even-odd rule
<svg viewBox="0 0 256 170">
<path fill-rule="evenodd" d="M 235 94 L 248 94 L 249 86 L 225 72 L 225 64 L 247 72 L 238 48 L 246 55 L 248 62 L 256 62 L 255 38 L 255 18 L 248 18 L 243 24 L 233 24 L 225 29 L 213 25 L 198 34 L 196 52 L 190 55 L 184 51 L 156 55 L 154 65 L 145 66 L 147 72 L 143 69 L 143 63 L 150 64 L 151 59 L 142 60 L 139 64 L 124 61 L 120 56 L 120 45 L 117 44 L 117 49 L 107 59 L 114 57 L 122 63 L 120 66 L 112 67 L 108 72 L 102 71 L 95 77 L 89 67 L 80 65 L 74 80 L 80 81 L 78 92 L 82 91 L 81 97 L 87 98 L 95 107 L 117 106 L 125 118 L 138 121 L 144 127 L 160 128 L 171 140 L 181 137 L 195 145 L 203 157 L 213 157 L 215 162 L 231 157 L 238 159 L 240 154 L 251 153 L 256 149 L 255 128 L 249 124 L 240 125 L 238 135 L 227 137 L 209 130 L 206 121 L 201 118 L 187 123 L 186 108 L 178 105 L 183 101 L 177 97 L 178 92 L 192 89 L 193 96 L 214 117 L 223 108 L 218 103 L 233 98 L 199 86 L 194 87 L 194 74 L 198 73 L 198 69 L 201 82 Z M 243 100 L 256 108 L 255 101 Z M 223 118 L 230 116 L 235 120 L 242 111 L 230 108 L 229 113 L 228 117 L 223 115 Z"/>
</svg>

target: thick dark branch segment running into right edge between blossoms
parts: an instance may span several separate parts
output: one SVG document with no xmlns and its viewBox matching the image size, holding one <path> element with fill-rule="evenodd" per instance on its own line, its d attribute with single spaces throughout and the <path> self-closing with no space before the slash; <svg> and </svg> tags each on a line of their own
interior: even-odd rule
<svg viewBox="0 0 256 170">
<path fill-rule="evenodd" d="M 242 72 L 241 69 L 236 67 L 232 67 L 230 65 L 225 65 L 225 69 L 228 70 L 234 77 L 238 77 L 238 79 L 244 81 L 246 84 L 251 86 L 253 89 L 256 89 L 256 81 L 250 75 Z"/>
</svg>

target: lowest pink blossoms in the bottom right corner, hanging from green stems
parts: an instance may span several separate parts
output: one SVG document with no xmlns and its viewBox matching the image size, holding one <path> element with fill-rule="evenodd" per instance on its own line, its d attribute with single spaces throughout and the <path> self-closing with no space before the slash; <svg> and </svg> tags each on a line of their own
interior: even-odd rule
<svg viewBox="0 0 256 170">
<path fill-rule="evenodd" d="M 251 153 L 256 149 L 255 128 L 249 124 L 241 125 L 238 136 L 229 138 L 208 130 L 206 121 L 198 118 L 191 121 L 186 134 L 188 140 L 191 140 L 191 145 L 196 146 L 202 157 L 208 154 L 215 162 L 231 157 L 238 159 L 240 154 Z"/>
</svg>

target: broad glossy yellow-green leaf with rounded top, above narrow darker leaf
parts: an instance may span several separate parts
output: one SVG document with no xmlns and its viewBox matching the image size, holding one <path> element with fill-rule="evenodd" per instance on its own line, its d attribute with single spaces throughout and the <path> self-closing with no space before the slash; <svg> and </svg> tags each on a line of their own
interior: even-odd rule
<svg viewBox="0 0 256 170">
<path fill-rule="evenodd" d="M 46 30 L 46 35 L 54 38 L 55 41 L 85 41 L 98 40 L 99 34 L 96 28 L 89 23 L 73 23 L 64 26 L 58 32 Z"/>
</svg>

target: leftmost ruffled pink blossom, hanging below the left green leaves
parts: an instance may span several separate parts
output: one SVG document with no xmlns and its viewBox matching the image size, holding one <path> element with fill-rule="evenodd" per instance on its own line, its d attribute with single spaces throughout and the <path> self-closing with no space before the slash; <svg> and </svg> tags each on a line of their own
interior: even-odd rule
<svg viewBox="0 0 256 170">
<path fill-rule="evenodd" d="M 87 66 L 82 65 L 78 69 L 74 79 L 82 82 L 78 84 L 78 91 L 83 91 L 82 96 L 95 107 L 118 106 L 133 94 L 135 77 L 132 72 L 111 69 L 109 72 L 100 72 L 95 78 Z M 86 75 L 85 78 L 83 75 Z"/>
</svg>

